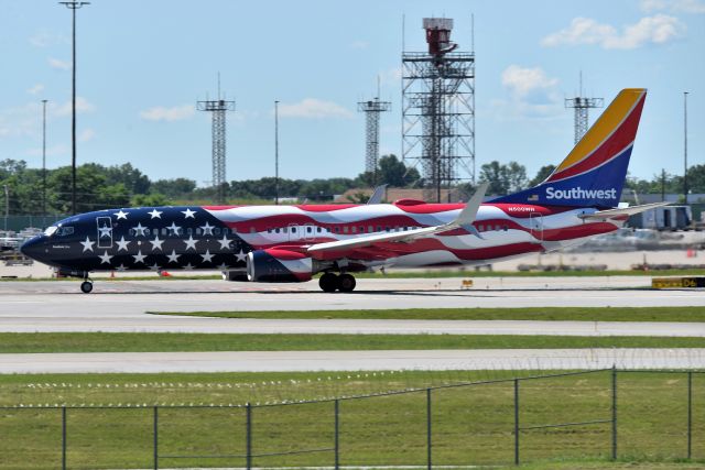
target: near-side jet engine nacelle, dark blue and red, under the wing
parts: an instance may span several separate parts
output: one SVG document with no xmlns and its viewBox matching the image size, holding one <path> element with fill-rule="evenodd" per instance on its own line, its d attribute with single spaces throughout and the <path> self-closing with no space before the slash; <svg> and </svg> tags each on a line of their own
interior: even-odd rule
<svg viewBox="0 0 705 470">
<path fill-rule="evenodd" d="M 313 276 L 311 256 L 285 249 L 250 251 L 247 278 L 252 282 L 305 282 Z"/>
</svg>

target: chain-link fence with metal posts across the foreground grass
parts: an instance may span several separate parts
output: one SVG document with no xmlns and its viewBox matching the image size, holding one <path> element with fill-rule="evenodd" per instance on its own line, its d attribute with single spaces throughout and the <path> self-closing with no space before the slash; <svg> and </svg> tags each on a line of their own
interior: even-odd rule
<svg viewBox="0 0 705 470">
<path fill-rule="evenodd" d="M 612 368 L 274 404 L 0 408 L 0 468 L 431 469 L 620 457 L 705 459 L 705 371 Z"/>
</svg>

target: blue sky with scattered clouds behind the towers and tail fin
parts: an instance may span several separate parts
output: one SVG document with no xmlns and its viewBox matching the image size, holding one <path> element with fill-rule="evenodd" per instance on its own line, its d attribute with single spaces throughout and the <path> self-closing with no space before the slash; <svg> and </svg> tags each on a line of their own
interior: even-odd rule
<svg viewBox="0 0 705 470">
<path fill-rule="evenodd" d="M 647 87 L 630 173 L 683 168 L 683 91 L 691 164 L 705 163 L 705 0 L 625 1 L 107 1 L 78 12 L 78 162 L 130 162 L 150 177 L 210 179 L 209 116 L 195 102 L 221 88 L 228 179 L 273 175 L 273 101 L 280 100 L 280 174 L 355 176 L 364 116 L 376 94 L 382 153 L 401 154 L 402 15 L 408 51 L 424 51 L 424 17 L 455 19 L 470 50 L 475 14 L 477 166 L 511 160 L 529 175 L 573 143 L 574 96 L 609 102 Z M 0 159 L 41 166 L 41 100 L 48 99 L 47 166 L 70 163 L 70 12 L 54 1 L 3 3 Z M 596 112 L 590 116 L 594 120 Z"/>
</svg>

